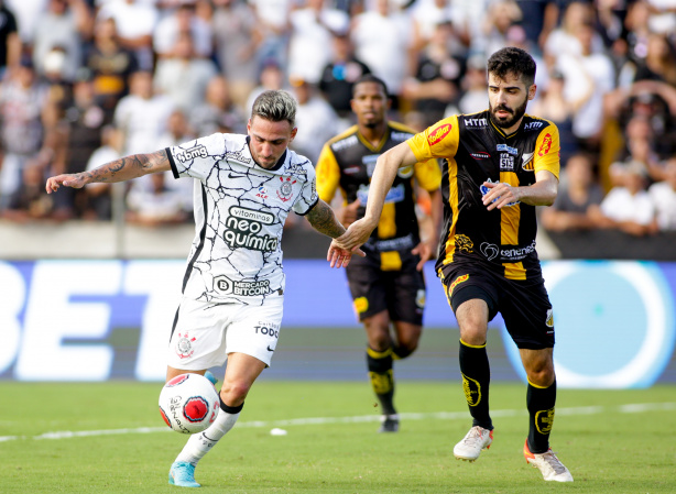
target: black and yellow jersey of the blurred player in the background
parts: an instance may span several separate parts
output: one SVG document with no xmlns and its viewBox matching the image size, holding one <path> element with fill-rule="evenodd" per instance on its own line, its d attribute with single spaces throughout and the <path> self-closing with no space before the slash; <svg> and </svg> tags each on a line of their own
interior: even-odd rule
<svg viewBox="0 0 676 494">
<path fill-rule="evenodd" d="M 359 133 L 357 125 L 335 136 L 324 145 L 317 160 L 319 197 L 330 202 L 340 188 L 345 204 L 357 199 L 361 201 L 358 217 L 363 217 L 378 156 L 414 134 L 415 131 L 406 125 L 388 122 L 386 131 L 377 146 Z M 438 162 L 421 160 L 413 167 L 399 171 L 385 198 L 378 228 L 369 240 L 371 248 L 380 245 L 377 248 L 379 251 L 394 251 L 411 249 L 419 242 L 414 179 L 426 190 L 437 189 L 441 183 Z"/>
</svg>

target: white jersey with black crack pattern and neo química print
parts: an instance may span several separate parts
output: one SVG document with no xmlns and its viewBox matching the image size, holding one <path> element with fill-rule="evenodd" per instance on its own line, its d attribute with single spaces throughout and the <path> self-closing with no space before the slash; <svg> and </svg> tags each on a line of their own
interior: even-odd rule
<svg viewBox="0 0 676 494">
<path fill-rule="evenodd" d="M 283 294 L 282 231 L 291 210 L 305 215 L 317 204 L 312 163 L 287 150 L 265 169 L 239 134 L 217 133 L 166 151 L 174 177 L 195 179 L 196 235 L 184 296 L 261 304 Z"/>
</svg>

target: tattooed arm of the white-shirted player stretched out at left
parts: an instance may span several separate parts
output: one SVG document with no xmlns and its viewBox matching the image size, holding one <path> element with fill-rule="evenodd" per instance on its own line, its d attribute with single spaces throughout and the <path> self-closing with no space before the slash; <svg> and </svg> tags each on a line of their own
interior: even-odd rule
<svg viewBox="0 0 676 494">
<path fill-rule="evenodd" d="M 143 175 L 157 172 L 168 172 L 171 164 L 166 150 L 150 154 L 132 154 L 106 163 L 89 172 L 63 174 L 47 178 L 45 188 L 52 194 L 63 185 L 64 187 L 83 188 L 94 182 L 112 183 L 124 182 Z"/>
</svg>

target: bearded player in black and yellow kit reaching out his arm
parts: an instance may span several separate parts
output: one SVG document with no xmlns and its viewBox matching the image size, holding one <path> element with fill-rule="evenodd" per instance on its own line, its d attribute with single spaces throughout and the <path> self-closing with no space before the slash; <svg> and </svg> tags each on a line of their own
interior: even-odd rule
<svg viewBox="0 0 676 494">
<path fill-rule="evenodd" d="M 523 50 L 495 52 L 488 61 L 488 110 L 451 116 L 384 153 L 371 178 L 364 217 L 331 242 L 328 260 L 339 264 L 342 252 L 369 239 L 399 169 L 445 158 L 436 270 L 460 327 L 462 387 L 473 419 L 454 455 L 475 461 L 493 441 L 486 344 L 488 322 L 500 312 L 528 381 L 524 457 L 546 481 L 573 482 L 549 448 L 556 402 L 554 316 L 535 251 L 535 207 L 550 206 L 556 198 L 559 139 L 554 123 L 525 114 L 535 97 L 535 68 Z"/>
</svg>

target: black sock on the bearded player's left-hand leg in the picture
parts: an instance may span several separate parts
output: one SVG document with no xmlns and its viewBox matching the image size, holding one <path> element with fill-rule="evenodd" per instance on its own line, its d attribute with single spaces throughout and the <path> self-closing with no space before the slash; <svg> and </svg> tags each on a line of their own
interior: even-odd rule
<svg viewBox="0 0 676 494">
<path fill-rule="evenodd" d="M 486 344 L 468 345 L 460 340 L 460 372 L 462 389 L 472 416 L 472 427 L 480 426 L 493 430 L 493 421 L 488 410 L 488 389 L 491 382 L 491 369 L 488 362 Z"/>
</svg>

